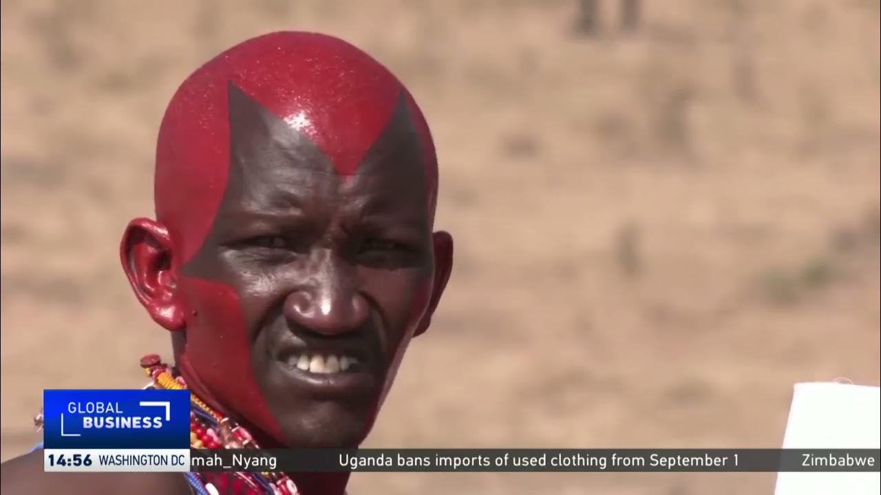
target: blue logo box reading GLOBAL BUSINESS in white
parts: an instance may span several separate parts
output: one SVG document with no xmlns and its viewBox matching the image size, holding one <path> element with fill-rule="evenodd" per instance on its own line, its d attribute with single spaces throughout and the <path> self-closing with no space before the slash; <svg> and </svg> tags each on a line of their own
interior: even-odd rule
<svg viewBox="0 0 881 495">
<path fill-rule="evenodd" d="M 43 390 L 45 448 L 189 448 L 189 390 Z"/>
</svg>

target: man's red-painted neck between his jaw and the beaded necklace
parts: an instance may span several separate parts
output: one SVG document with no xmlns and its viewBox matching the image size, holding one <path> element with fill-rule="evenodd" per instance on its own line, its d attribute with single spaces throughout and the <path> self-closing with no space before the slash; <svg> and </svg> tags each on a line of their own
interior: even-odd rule
<svg viewBox="0 0 881 495">
<path fill-rule="evenodd" d="M 202 399 L 204 403 L 211 406 L 213 410 L 217 410 L 226 416 L 234 417 L 233 412 L 223 407 L 223 405 L 211 395 L 202 380 L 199 380 L 199 375 L 193 369 L 193 366 L 189 364 L 189 359 L 187 359 L 186 355 L 181 355 L 175 359 L 175 365 L 177 366 L 178 371 L 183 375 L 183 379 L 187 380 L 187 388 L 189 388 L 193 395 Z M 241 420 L 241 418 L 236 419 L 241 425 L 248 424 L 246 421 Z M 251 432 L 255 440 L 264 447 L 284 448 L 284 446 L 278 443 L 277 440 L 268 437 L 259 428 L 254 428 L 248 424 L 248 431 Z M 297 485 L 297 490 L 300 491 L 300 495 L 344 495 L 345 486 L 349 484 L 349 476 L 351 475 L 351 473 L 286 474 L 293 480 L 293 483 Z"/>
</svg>

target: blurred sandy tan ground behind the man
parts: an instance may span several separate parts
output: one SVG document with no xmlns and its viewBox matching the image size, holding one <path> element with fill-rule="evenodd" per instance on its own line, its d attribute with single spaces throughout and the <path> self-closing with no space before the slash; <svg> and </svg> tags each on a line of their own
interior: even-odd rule
<svg viewBox="0 0 881 495">
<path fill-rule="evenodd" d="M 2 456 L 167 333 L 117 261 L 177 85 L 312 30 L 409 85 L 456 265 L 369 447 L 779 447 L 879 382 L 877 0 L 4 0 Z M 765 474 L 359 474 L 355 494 L 771 493 Z"/>
</svg>

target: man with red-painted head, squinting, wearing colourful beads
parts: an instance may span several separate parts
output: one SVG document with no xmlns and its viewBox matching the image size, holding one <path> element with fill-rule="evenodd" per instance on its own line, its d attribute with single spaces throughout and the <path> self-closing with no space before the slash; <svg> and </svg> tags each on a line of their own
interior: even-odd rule
<svg viewBox="0 0 881 495">
<path fill-rule="evenodd" d="M 195 447 L 357 447 L 447 284 L 426 121 L 389 70 L 315 33 L 271 33 L 187 78 L 156 151 L 156 219 L 122 238 L 137 299 L 171 334 L 156 388 L 189 388 Z M 43 473 L 3 491 L 339 494 L 348 474 Z"/>
</svg>

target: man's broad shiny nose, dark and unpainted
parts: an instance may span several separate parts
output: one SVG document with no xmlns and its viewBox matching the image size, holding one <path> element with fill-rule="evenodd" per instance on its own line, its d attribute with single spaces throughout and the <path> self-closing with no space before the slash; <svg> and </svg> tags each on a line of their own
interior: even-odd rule
<svg viewBox="0 0 881 495">
<path fill-rule="evenodd" d="M 370 316 L 366 299 L 345 267 L 329 257 L 317 263 L 307 283 L 285 299 L 285 317 L 304 329 L 338 336 L 363 327 Z"/>
</svg>

